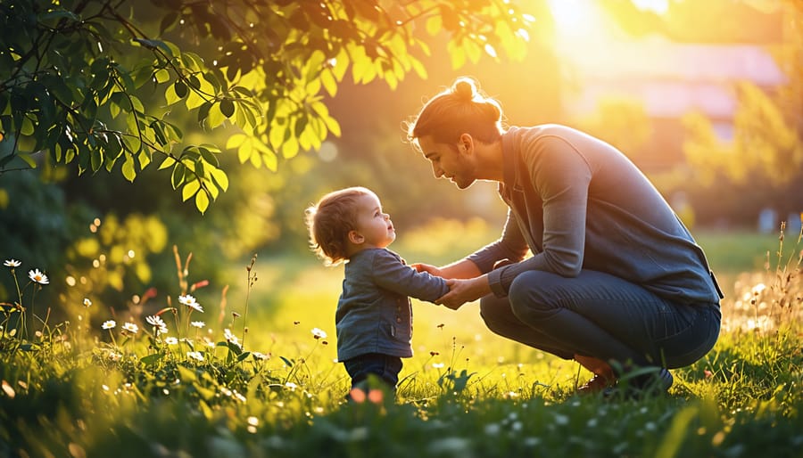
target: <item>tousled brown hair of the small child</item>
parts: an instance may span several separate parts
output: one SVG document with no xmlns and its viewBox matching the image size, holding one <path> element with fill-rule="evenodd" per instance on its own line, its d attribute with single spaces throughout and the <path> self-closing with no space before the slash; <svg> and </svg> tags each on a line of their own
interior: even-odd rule
<svg viewBox="0 0 803 458">
<path fill-rule="evenodd" d="M 310 230 L 310 249 L 328 266 L 348 259 L 349 231 L 357 228 L 357 200 L 373 194 L 361 186 L 344 188 L 329 192 L 304 212 Z"/>
</svg>

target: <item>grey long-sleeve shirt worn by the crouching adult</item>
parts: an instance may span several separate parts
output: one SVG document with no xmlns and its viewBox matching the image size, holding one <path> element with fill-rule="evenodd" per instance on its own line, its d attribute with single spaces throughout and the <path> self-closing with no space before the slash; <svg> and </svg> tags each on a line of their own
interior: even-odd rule
<svg viewBox="0 0 803 458">
<path fill-rule="evenodd" d="M 680 303 L 718 303 L 721 292 L 691 233 L 620 151 L 570 127 L 511 127 L 502 136 L 509 206 L 501 239 L 468 258 L 507 295 L 527 270 L 567 277 L 616 275 Z M 525 258 L 527 249 L 533 257 Z M 495 262 L 516 264 L 493 269 Z M 524 259 L 524 260 L 522 260 Z"/>
</svg>

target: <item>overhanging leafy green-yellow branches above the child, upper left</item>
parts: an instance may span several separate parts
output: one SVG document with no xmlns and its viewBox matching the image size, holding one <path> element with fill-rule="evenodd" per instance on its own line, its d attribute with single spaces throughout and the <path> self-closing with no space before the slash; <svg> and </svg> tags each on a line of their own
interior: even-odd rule
<svg viewBox="0 0 803 458">
<path fill-rule="evenodd" d="M 340 135 L 326 98 L 347 75 L 426 78 L 426 35 L 448 37 L 455 68 L 520 58 L 533 21 L 504 0 L 4 2 L 0 174 L 45 162 L 133 181 L 153 163 L 204 212 L 228 188 L 224 151 L 276 170 Z M 232 128 L 226 144 L 188 141 L 186 115 Z"/>
</svg>

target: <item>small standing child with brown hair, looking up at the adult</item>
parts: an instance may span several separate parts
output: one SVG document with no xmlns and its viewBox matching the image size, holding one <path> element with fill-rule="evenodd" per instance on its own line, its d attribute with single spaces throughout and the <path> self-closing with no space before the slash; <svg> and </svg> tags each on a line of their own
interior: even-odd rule
<svg viewBox="0 0 803 458">
<path fill-rule="evenodd" d="M 306 217 L 312 250 L 328 266 L 346 263 L 335 328 L 337 359 L 352 389 L 365 389 L 369 374 L 395 389 L 402 358 L 412 356 L 409 297 L 433 302 L 449 291 L 446 281 L 387 249 L 396 238 L 393 223 L 366 188 L 330 192 Z"/>
</svg>

